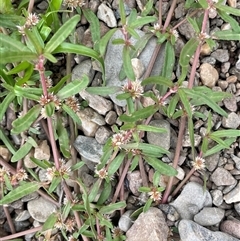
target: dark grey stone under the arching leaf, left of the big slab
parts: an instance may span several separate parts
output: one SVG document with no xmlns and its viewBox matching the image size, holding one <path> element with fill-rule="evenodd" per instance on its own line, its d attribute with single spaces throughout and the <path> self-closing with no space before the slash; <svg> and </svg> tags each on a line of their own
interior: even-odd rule
<svg viewBox="0 0 240 241">
<path fill-rule="evenodd" d="M 92 61 L 90 59 L 82 61 L 80 64 L 76 65 L 72 70 L 72 79 L 80 80 L 84 75 L 87 75 L 89 81 L 91 82 L 94 76 L 94 70 L 92 68 Z"/>
</svg>

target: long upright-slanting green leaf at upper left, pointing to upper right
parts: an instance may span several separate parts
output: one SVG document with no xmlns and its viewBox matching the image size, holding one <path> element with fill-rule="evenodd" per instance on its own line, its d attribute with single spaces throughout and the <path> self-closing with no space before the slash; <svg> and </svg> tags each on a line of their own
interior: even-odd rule
<svg viewBox="0 0 240 241">
<path fill-rule="evenodd" d="M 79 15 L 74 15 L 66 23 L 64 23 L 57 32 L 52 36 L 52 38 L 47 42 L 44 52 L 52 53 L 56 50 L 60 44 L 70 35 L 70 33 L 75 29 L 77 23 L 80 21 Z"/>
</svg>

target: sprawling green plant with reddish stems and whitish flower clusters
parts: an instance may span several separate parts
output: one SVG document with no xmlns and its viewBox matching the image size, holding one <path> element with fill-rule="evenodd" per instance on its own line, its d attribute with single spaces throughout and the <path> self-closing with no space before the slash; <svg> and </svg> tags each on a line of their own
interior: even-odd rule
<svg viewBox="0 0 240 241">
<path fill-rule="evenodd" d="M 120 116 L 120 120 L 124 124 L 120 128 L 114 127 L 115 134 L 109 138 L 103 148 L 103 156 L 95 171 L 95 176 L 99 178 L 89 191 L 82 180 L 76 176 L 76 171 L 84 165 L 84 162 L 77 162 L 76 152 L 74 148 L 71 148 L 77 135 L 75 127 L 81 124 L 77 115 L 80 103 L 77 102 L 75 95 L 83 89 L 93 94 L 108 95 L 119 90 L 119 87 L 88 87 L 87 76 L 81 80 L 70 80 L 70 55 L 84 55 L 98 61 L 102 70 L 103 83 L 105 83 L 104 54 L 111 36 L 117 29 L 110 30 L 101 38 L 96 15 L 84 8 L 82 1 L 77 1 L 79 4 L 77 6 L 67 5 L 71 8 L 69 11 L 61 8 L 61 0 L 52 0 L 49 2 L 47 11 L 41 14 L 41 19 L 31 13 L 32 1 L 22 1 L 16 9 L 13 8 L 11 1 L 1 2 L 0 76 L 3 91 L 0 93 L 2 99 L 0 120 L 4 118 L 10 104 L 13 105 L 16 112 L 21 112 L 21 115 L 12 122 L 11 135 L 21 135 L 22 142 L 17 150 L 9 137 L 5 135 L 4 130 L 0 129 L 1 141 L 12 153 L 11 162 L 17 163 L 15 169 L 3 158 L 0 158 L 0 164 L 3 166 L 0 169 L 2 185 L 0 205 L 9 204 L 35 191 L 54 202 L 59 210 L 36 230 L 41 229 L 39 235 L 45 235 L 47 238 L 49 234 L 45 231 L 56 227 L 61 230 L 62 236 L 66 240 L 74 240 L 80 236 L 85 241 L 104 240 L 104 238 L 109 241 L 124 240 L 124 235 L 114 229 L 108 215 L 116 210 L 123 210 L 126 206 L 123 183 L 128 171 L 138 168 L 141 172 L 143 187 L 139 191 L 150 195 L 141 210 L 147 211 L 151 205 L 160 202 L 161 192 L 164 191 L 163 203 L 167 202 L 169 195 L 176 195 L 188 178 L 196 170 L 204 167 L 203 157 L 228 148 L 236 137 L 240 136 L 239 130 L 212 131 L 212 113 L 227 115 L 218 102 L 229 97 L 229 94 L 215 92 L 204 86 L 193 86 L 201 46 L 207 43 L 212 48 L 216 40 L 240 39 L 239 24 L 231 16 L 240 16 L 239 10 L 223 5 L 223 1 L 185 1 L 186 8 L 196 10 L 183 20 L 189 21 L 195 30 L 196 37 L 184 45 L 177 58 L 174 52 L 174 45 L 178 37 L 176 29 L 183 21 L 171 26 L 171 16 L 176 2 L 176 0 L 173 1 L 164 25 L 161 15 L 162 1 L 159 1 L 159 9 L 155 9 L 154 16 L 150 16 L 153 1 L 148 1 L 140 14 L 133 9 L 129 16 L 126 16 L 124 11 L 123 1 L 119 2 L 120 30 L 123 33 L 123 39 L 115 39 L 114 44 L 123 45 L 123 66 L 119 75 L 120 79 L 127 78 L 127 83 L 122 88 L 123 93 L 119 94 L 117 98 L 126 101 L 126 113 Z M 26 10 L 27 6 L 28 10 Z M 197 17 L 196 13 L 199 11 L 202 11 L 203 14 Z M 230 23 L 232 30 L 217 31 L 210 36 L 206 32 L 209 11 L 216 11 L 224 21 Z M 62 19 L 59 18 L 58 13 L 62 13 Z M 82 15 L 90 23 L 93 49 L 75 44 L 73 32 Z M 156 21 L 158 21 L 157 24 Z M 149 26 L 149 32 L 144 41 L 140 39 L 136 31 L 143 25 Z M 131 36 L 137 40 L 135 46 L 131 43 Z M 143 81 L 139 81 L 135 77 L 131 59 L 137 56 L 153 36 L 157 37 L 158 45 L 154 50 Z M 163 44 L 165 58 L 161 74 L 151 76 L 153 64 Z M 45 66 L 49 62 L 56 63 L 58 54 L 66 55 L 67 74 L 58 83 L 52 84 L 51 72 L 47 71 Z M 193 61 L 190 66 L 192 57 Z M 180 76 L 172 81 L 175 63 L 180 66 Z M 187 87 L 184 83 L 186 80 L 188 81 Z M 155 92 L 144 91 L 144 88 L 150 84 L 154 85 Z M 153 104 L 144 107 L 141 103 L 142 97 L 151 98 Z M 199 107 L 203 105 L 208 108 L 208 116 L 200 112 Z M 161 161 L 161 157 L 169 153 L 167 150 L 148 144 L 144 140 L 145 132 L 163 133 L 165 131 L 165 129 L 148 125 L 157 112 L 170 119 L 180 121 L 172 166 Z M 72 137 L 69 137 L 62 124 L 63 116 L 69 117 Z M 194 147 L 193 125 L 196 119 L 208 121 L 208 129 L 198 150 Z M 29 151 L 37 146 L 36 135 L 39 132 L 36 124 L 38 122 L 46 127 L 45 131 L 51 144 L 53 161 L 40 161 L 36 158 L 32 158 L 32 161 L 47 172 L 48 183 L 41 183 L 34 171 L 24 168 L 22 163 L 22 159 Z M 177 174 L 176 167 L 185 129 L 190 135 L 193 168 L 171 193 L 173 177 Z M 209 143 L 211 147 L 209 147 Z M 212 145 L 212 143 L 216 144 Z M 68 168 L 65 161 L 62 160 L 63 158 L 72 158 L 73 166 Z M 148 183 L 144 163 L 155 170 L 152 185 Z M 71 172 L 73 175 L 70 175 Z M 119 180 L 109 204 L 113 177 L 116 176 L 116 173 L 118 173 Z M 159 187 L 161 175 L 170 176 L 166 190 Z M 66 183 L 66 180 L 69 179 L 76 184 L 74 194 Z M 62 185 L 66 196 L 60 205 L 55 200 L 55 190 L 59 185 Z M 103 187 L 103 191 L 97 197 L 100 187 Z M 119 202 L 117 202 L 118 199 Z M 8 212 L 6 208 L 5 212 Z M 8 222 L 14 231 L 11 219 L 8 219 Z M 115 230 L 114 235 L 111 234 L 111 230 Z M 18 237 L 17 234 L 14 237 Z"/>
</svg>

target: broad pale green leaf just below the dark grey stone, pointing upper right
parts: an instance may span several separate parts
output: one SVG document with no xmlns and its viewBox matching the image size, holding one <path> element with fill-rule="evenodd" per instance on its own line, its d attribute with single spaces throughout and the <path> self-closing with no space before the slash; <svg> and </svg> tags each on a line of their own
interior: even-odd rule
<svg viewBox="0 0 240 241">
<path fill-rule="evenodd" d="M 60 100 L 78 94 L 81 90 L 85 89 L 89 84 L 87 75 L 84 75 L 81 80 L 73 80 L 64 86 L 58 93 L 57 96 Z"/>
</svg>

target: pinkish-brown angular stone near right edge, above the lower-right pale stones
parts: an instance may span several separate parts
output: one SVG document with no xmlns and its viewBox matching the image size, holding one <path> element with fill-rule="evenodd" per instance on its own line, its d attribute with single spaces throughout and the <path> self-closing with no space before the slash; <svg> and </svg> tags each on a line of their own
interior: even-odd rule
<svg viewBox="0 0 240 241">
<path fill-rule="evenodd" d="M 222 167 L 218 167 L 212 173 L 211 180 L 216 186 L 229 186 L 236 182 L 231 173 Z"/>
</svg>

